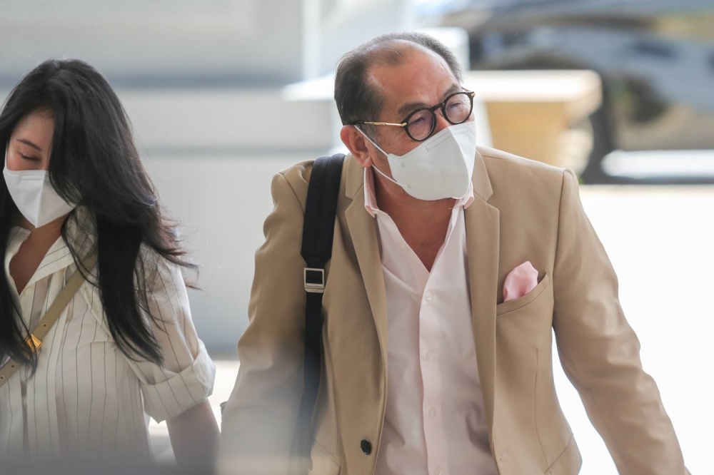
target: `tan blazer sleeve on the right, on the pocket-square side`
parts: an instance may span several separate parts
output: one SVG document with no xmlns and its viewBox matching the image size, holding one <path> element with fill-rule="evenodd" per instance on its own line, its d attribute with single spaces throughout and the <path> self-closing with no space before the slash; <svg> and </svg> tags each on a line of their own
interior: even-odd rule
<svg viewBox="0 0 714 475">
<path fill-rule="evenodd" d="M 688 473 L 657 386 L 643 371 L 615 271 L 570 170 L 563 174 L 553 290 L 560 361 L 620 474 Z"/>
</svg>

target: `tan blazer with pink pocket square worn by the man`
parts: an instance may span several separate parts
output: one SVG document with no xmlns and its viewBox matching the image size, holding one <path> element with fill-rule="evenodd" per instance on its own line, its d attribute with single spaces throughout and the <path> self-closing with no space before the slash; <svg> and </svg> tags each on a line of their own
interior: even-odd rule
<svg viewBox="0 0 714 475">
<path fill-rule="evenodd" d="M 386 407 L 387 313 L 363 168 L 346 159 L 324 295 L 324 367 L 310 474 L 373 474 Z M 226 473 L 298 473 L 288 461 L 301 399 L 305 290 L 300 256 L 311 162 L 273 178 L 275 208 L 256 253 L 250 325 L 223 417 Z M 620 474 L 685 474 L 682 453 L 618 281 L 570 170 L 479 148 L 466 209 L 476 362 L 501 475 L 572 475 L 580 453 L 553 385 L 560 361 Z M 508 272 L 530 260 L 533 292 L 503 302 Z M 363 441 L 373 449 L 363 451 Z M 288 469 L 288 465 L 291 466 Z"/>
</svg>

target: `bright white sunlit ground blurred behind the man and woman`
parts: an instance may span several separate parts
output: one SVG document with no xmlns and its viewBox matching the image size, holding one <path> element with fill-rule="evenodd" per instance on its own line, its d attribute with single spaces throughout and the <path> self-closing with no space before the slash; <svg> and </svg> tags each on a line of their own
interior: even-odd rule
<svg viewBox="0 0 714 475">
<path fill-rule="evenodd" d="M 688 468 L 714 475 L 708 444 L 714 428 L 714 312 L 706 303 L 714 290 L 714 187 L 583 187 L 581 195 L 620 277 L 621 304 Z M 211 404 L 218 419 L 238 362 L 218 359 L 216 366 Z M 558 362 L 555 384 L 583 453 L 581 475 L 617 474 Z M 150 429 L 159 459 L 171 459 L 166 424 L 152 422 Z"/>
</svg>

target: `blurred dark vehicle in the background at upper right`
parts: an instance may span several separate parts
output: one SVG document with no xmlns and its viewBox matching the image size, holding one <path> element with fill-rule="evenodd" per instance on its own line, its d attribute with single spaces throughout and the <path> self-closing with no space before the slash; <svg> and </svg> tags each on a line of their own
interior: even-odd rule
<svg viewBox="0 0 714 475">
<path fill-rule="evenodd" d="M 613 150 L 714 149 L 714 0 L 440 0 L 431 7 L 443 26 L 468 31 L 473 69 L 600 75 L 603 106 L 583 124 L 594 136 L 585 182 L 611 181 L 601 164 Z"/>
</svg>

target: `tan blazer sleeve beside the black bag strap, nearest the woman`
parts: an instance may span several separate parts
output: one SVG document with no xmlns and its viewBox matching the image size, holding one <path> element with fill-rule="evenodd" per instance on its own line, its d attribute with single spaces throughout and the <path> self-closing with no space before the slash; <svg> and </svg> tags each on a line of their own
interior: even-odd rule
<svg viewBox="0 0 714 475">
<path fill-rule="evenodd" d="M 301 193 L 306 196 L 307 184 Z M 289 455 L 303 393 L 305 289 L 303 207 L 288 180 L 275 175 L 274 208 L 256 252 L 241 365 L 222 420 L 219 472 L 290 472 Z"/>
</svg>

